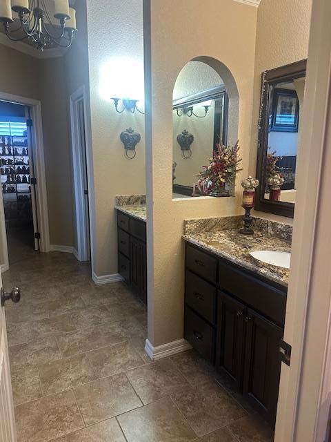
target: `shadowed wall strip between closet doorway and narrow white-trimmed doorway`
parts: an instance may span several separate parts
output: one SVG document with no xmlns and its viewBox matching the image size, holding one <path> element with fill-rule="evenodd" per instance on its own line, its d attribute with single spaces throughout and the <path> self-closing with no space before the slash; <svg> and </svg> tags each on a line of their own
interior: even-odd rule
<svg viewBox="0 0 331 442">
<path fill-rule="evenodd" d="M 64 59 L 41 60 L 39 69 L 50 244 L 73 246 L 70 126 Z"/>
</svg>

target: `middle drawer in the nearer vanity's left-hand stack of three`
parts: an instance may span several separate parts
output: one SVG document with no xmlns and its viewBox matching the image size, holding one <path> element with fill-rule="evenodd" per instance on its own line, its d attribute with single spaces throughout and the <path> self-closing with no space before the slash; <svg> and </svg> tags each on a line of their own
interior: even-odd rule
<svg viewBox="0 0 331 442">
<path fill-rule="evenodd" d="M 216 316 L 216 288 L 189 270 L 186 270 L 185 285 L 186 303 L 214 325 Z"/>
</svg>

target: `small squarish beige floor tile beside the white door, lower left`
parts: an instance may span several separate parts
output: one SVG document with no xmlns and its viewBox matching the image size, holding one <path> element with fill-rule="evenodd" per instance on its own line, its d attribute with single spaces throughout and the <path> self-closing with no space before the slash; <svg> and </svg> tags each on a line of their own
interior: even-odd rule
<svg viewBox="0 0 331 442">
<path fill-rule="evenodd" d="M 15 405 L 43 396 L 37 367 L 21 367 L 18 370 L 12 370 L 11 375 Z"/>
</svg>

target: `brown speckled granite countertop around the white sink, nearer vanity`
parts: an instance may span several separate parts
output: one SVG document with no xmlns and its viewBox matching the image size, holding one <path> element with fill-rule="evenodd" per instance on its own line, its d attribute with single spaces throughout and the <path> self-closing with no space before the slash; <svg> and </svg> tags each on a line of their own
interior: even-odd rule
<svg viewBox="0 0 331 442">
<path fill-rule="evenodd" d="M 215 253 L 235 264 L 254 271 L 259 275 L 287 287 L 289 269 L 266 264 L 250 256 L 250 251 L 277 250 L 291 251 L 291 242 L 283 238 L 268 236 L 263 231 L 255 231 L 254 236 L 244 236 L 238 228 L 213 231 L 187 231 L 184 240 L 206 251 Z"/>
</svg>

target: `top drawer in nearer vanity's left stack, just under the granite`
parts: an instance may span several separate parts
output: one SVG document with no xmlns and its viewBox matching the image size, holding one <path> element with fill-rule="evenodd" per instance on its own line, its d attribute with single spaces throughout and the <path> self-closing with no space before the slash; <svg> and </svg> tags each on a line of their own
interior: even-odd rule
<svg viewBox="0 0 331 442">
<path fill-rule="evenodd" d="M 186 244 L 186 265 L 194 273 L 216 283 L 217 258 Z"/>
</svg>

